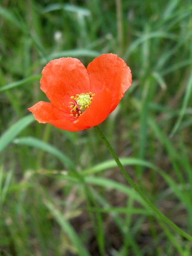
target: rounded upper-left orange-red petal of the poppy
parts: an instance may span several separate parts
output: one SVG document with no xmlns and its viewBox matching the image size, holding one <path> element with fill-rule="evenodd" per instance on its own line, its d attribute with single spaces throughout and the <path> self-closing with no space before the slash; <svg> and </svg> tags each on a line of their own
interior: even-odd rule
<svg viewBox="0 0 192 256">
<path fill-rule="evenodd" d="M 41 90 L 55 107 L 70 111 L 71 96 L 90 92 L 87 70 L 76 58 L 59 58 L 50 61 L 42 71 Z"/>
</svg>

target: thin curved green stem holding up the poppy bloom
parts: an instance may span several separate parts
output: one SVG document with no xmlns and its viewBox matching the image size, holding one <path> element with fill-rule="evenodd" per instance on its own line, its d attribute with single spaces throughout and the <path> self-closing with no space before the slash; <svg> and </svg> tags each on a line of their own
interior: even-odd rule
<svg viewBox="0 0 192 256">
<path fill-rule="evenodd" d="M 121 170 L 122 174 L 124 175 L 125 179 L 128 181 L 128 183 L 139 193 L 139 195 L 143 198 L 143 200 L 148 204 L 148 206 L 157 214 L 158 217 L 160 217 L 161 220 L 165 221 L 167 224 L 169 224 L 172 229 L 174 229 L 176 232 L 178 232 L 181 236 L 185 237 L 189 241 L 192 241 L 192 236 L 190 236 L 185 231 L 181 230 L 177 225 L 175 225 L 172 221 L 169 220 L 162 212 L 160 212 L 159 209 L 157 209 L 154 204 L 151 203 L 151 201 L 143 194 L 143 192 L 140 190 L 140 188 L 134 183 L 134 181 L 131 179 L 131 177 L 128 175 L 128 173 L 125 171 L 124 167 L 122 166 L 122 163 L 119 161 L 119 158 L 117 157 L 115 151 L 111 147 L 110 143 L 106 139 L 105 135 L 102 133 L 101 129 L 98 126 L 94 127 L 97 134 L 102 138 L 102 140 L 105 142 L 105 145 L 109 149 L 110 153 L 112 154 L 114 160 L 116 161 L 117 166 Z"/>
</svg>

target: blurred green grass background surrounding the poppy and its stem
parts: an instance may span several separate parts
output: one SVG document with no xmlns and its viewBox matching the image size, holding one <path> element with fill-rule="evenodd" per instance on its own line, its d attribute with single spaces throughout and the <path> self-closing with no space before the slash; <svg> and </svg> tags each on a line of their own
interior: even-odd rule
<svg viewBox="0 0 192 256">
<path fill-rule="evenodd" d="M 191 256 L 93 128 L 59 130 L 27 108 L 52 59 L 113 52 L 133 83 L 100 128 L 135 183 L 192 235 L 192 1 L 0 1 L 0 255 Z"/>
</svg>

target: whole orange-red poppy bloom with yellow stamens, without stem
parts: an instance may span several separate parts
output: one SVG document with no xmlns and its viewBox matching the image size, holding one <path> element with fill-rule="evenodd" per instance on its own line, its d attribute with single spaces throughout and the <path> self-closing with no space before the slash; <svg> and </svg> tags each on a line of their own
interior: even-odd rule
<svg viewBox="0 0 192 256">
<path fill-rule="evenodd" d="M 41 90 L 48 102 L 29 111 L 40 123 L 67 131 L 99 125 L 116 108 L 131 86 L 131 70 L 115 54 L 103 54 L 87 67 L 76 58 L 50 61 L 42 71 Z"/>
</svg>

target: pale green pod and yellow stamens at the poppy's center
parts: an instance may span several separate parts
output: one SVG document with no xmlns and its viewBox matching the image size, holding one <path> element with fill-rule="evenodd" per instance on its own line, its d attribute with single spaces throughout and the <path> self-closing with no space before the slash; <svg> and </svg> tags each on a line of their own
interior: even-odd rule
<svg viewBox="0 0 192 256">
<path fill-rule="evenodd" d="M 86 111 L 87 108 L 90 107 L 94 95 L 95 94 L 90 92 L 76 94 L 76 96 L 71 96 L 71 99 L 73 99 L 74 102 L 70 102 L 70 116 L 75 116 L 76 118 L 78 118 L 84 111 Z"/>
</svg>

